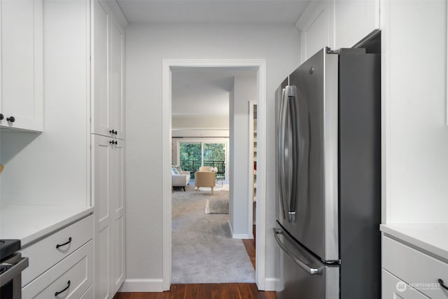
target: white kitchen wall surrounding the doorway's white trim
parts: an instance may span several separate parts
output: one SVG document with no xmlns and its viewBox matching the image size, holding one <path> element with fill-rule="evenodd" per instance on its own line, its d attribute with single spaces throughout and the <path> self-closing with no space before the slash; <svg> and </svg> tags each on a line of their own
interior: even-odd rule
<svg viewBox="0 0 448 299">
<path fill-rule="evenodd" d="M 126 29 L 127 278 L 162 279 L 162 59 L 265 59 L 267 156 L 274 155 L 274 90 L 299 63 L 286 25 L 130 25 Z M 275 277 L 273 160 L 267 165 L 266 276 Z M 138 244 L 138 245 L 137 245 Z"/>
</svg>

